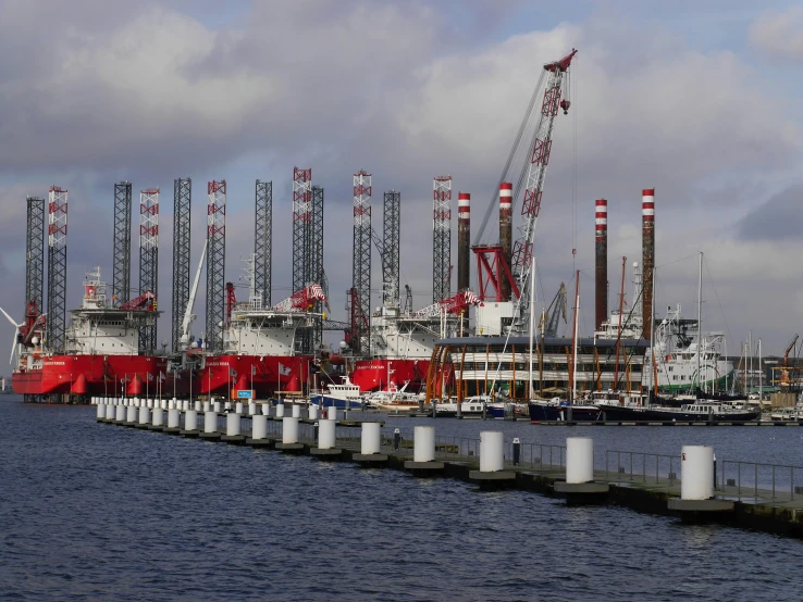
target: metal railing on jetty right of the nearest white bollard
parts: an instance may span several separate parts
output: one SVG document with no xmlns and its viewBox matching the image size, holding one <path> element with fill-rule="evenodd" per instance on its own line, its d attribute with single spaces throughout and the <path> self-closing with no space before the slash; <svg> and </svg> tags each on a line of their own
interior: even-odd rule
<svg viewBox="0 0 803 602">
<path fill-rule="evenodd" d="M 803 466 L 719 460 L 715 466 L 715 490 L 738 499 L 771 499 L 777 502 L 803 499 Z"/>
</svg>

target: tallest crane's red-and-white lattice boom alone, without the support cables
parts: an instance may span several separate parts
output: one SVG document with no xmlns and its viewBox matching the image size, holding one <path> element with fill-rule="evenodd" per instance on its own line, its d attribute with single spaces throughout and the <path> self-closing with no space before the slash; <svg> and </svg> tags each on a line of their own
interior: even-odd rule
<svg viewBox="0 0 803 602">
<path fill-rule="evenodd" d="M 544 177 L 546 175 L 546 166 L 549 163 L 549 153 L 552 152 L 552 133 L 555 127 L 555 117 L 560 109 L 564 114 L 569 112 L 570 102 L 564 97 L 564 88 L 566 87 L 566 97 L 568 97 L 568 77 L 566 77 L 571 60 L 577 54 L 573 50 L 554 63 L 544 65 L 547 72 L 546 84 L 544 89 L 544 100 L 541 104 L 541 114 L 539 115 L 538 127 L 533 137 L 532 152 L 530 153 L 530 164 L 527 174 L 527 188 L 524 189 L 524 200 L 521 205 L 521 215 L 523 223 L 519 227 L 520 237 L 515 242 L 512 249 L 512 272 L 519 290 L 520 297 L 520 315 L 527 315 L 528 294 L 528 275 L 530 274 L 530 262 L 533 254 L 533 239 L 535 226 L 541 212 L 541 199 L 543 196 Z"/>
</svg>

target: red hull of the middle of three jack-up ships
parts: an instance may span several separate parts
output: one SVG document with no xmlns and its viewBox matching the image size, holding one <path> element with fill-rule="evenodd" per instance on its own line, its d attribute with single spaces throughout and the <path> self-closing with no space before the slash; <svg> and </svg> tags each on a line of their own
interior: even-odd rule
<svg viewBox="0 0 803 602">
<path fill-rule="evenodd" d="M 276 355 L 213 355 L 207 358 L 202 369 L 196 371 L 193 392 L 228 396 L 228 391 L 256 391 L 257 398 L 277 392 L 301 393 L 309 379 L 310 359 Z M 281 365 L 280 365 L 281 364 Z"/>
</svg>

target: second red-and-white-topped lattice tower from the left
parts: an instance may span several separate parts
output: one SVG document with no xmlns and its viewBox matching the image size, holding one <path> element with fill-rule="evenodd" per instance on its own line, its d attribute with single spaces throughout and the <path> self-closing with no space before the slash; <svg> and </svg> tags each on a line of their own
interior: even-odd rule
<svg viewBox="0 0 803 602">
<path fill-rule="evenodd" d="M 150 291 L 159 302 L 159 188 L 139 192 L 139 294 Z M 155 306 L 156 306 L 155 303 Z M 156 319 L 139 327 L 139 349 L 157 350 Z"/>
</svg>

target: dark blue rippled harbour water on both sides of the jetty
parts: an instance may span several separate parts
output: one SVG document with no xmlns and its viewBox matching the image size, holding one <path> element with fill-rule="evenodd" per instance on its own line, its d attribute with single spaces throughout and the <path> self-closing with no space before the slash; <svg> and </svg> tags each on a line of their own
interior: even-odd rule
<svg viewBox="0 0 803 602">
<path fill-rule="evenodd" d="M 493 426 L 528 441 L 566 434 Z M 591 432 L 677 453 L 675 430 Z M 799 455 L 795 428 L 701 431 L 745 459 Z M 801 561 L 802 542 L 765 534 L 0 401 L 0 600 L 779 600 L 800 598 Z"/>
</svg>

